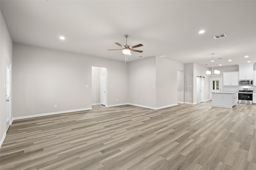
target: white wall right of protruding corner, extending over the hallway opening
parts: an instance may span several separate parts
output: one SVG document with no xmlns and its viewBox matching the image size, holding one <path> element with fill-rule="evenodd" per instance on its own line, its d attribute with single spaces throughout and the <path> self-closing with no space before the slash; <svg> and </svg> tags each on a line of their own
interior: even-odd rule
<svg viewBox="0 0 256 170">
<path fill-rule="evenodd" d="M 177 105 L 178 70 L 184 64 L 156 57 L 156 107 Z"/>
</svg>

